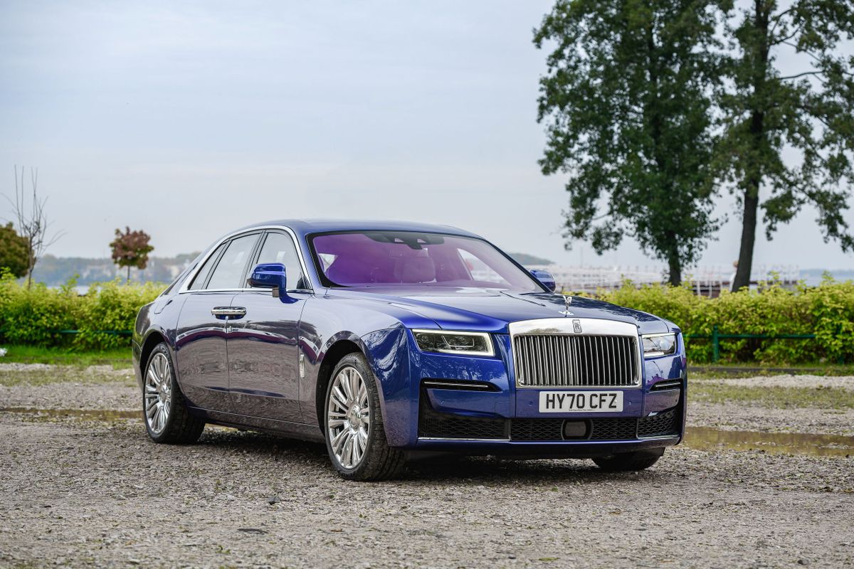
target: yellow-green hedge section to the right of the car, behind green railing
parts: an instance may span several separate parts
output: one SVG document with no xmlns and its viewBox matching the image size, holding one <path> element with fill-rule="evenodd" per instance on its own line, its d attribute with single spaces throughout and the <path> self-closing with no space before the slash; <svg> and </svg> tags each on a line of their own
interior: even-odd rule
<svg viewBox="0 0 854 569">
<path fill-rule="evenodd" d="M 854 361 L 854 282 L 826 277 L 818 287 L 788 290 L 779 282 L 717 299 L 696 296 L 690 287 L 635 287 L 631 282 L 597 298 L 676 322 L 684 334 L 816 334 L 816 340 L 720 340 L 720 363 L 768 365 Z M 686 340 L 688 361 L 711 363 L 711 340 Z"/>
</svg>

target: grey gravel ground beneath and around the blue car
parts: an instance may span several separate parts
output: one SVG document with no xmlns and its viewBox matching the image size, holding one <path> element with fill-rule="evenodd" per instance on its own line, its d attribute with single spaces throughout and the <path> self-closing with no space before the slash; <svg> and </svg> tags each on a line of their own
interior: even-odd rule
<svg viewBox="0 0 854 569">
<path fill-rule="evenodd" d="M 0 407 L 136 409 L 124 376 L 99 381 L 2 386 Z M 693 424 L 747 424 L 705 407 Z M 680 446 L 643 473 L 483 459 L 359 484 L 318 444 L 208 428 L 157 445 L 136 419 L 18 412 L 0 412 L 0 456 L 0 566 L 854 563 L 854 457 Z"/>
</svg>

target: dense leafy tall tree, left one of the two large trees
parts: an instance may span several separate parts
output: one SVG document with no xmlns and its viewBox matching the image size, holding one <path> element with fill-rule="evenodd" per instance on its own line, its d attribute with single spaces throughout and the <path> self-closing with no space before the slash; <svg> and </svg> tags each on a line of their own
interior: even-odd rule
<svg viewBox="0 0 854 569">
<path fill-rule="evenodd" d="M 711 96 L 718 4 L 708 0 L 558 0 L 535 30 L 552 49 L 540 79 L 544 174 L 569 179 L 567 240 L 597 253 L 631 236 L 669 281 L 718 227 Z"/>
</svg>

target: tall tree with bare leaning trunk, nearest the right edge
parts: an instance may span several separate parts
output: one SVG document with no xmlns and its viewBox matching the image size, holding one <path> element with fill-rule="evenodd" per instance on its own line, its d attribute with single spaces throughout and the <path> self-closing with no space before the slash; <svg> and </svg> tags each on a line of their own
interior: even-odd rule
<svg viewBox="0 0 854 569">
<path fill-rule="evenodd" d="M 751 0 L 740 6 L 726 26 L 735 54 L 720 99 L 726 131 L 718 157 L 741 209 L 736 290 L 750 284 L 760 207 L 769 239 L 810 204 L 825 241 L 854 249 L 845 222 L 854 180 L 854 3 Z"/>
</svg>

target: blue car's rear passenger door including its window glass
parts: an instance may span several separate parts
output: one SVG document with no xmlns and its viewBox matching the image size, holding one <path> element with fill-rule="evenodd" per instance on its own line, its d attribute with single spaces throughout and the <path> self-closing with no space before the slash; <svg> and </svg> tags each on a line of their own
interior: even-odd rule
<svg viewBox="0 0 854 569">
<path fill-rule="evenodd" d="M 230 323 L 241 317 L 231 301 L 259 236 L 238 235 L 219 245 L 184 293 L 188 298 L 178 316 L 175 359 L 181 391 L 194 407 L 233 412 L 225 339 Z"/>
</svg>

